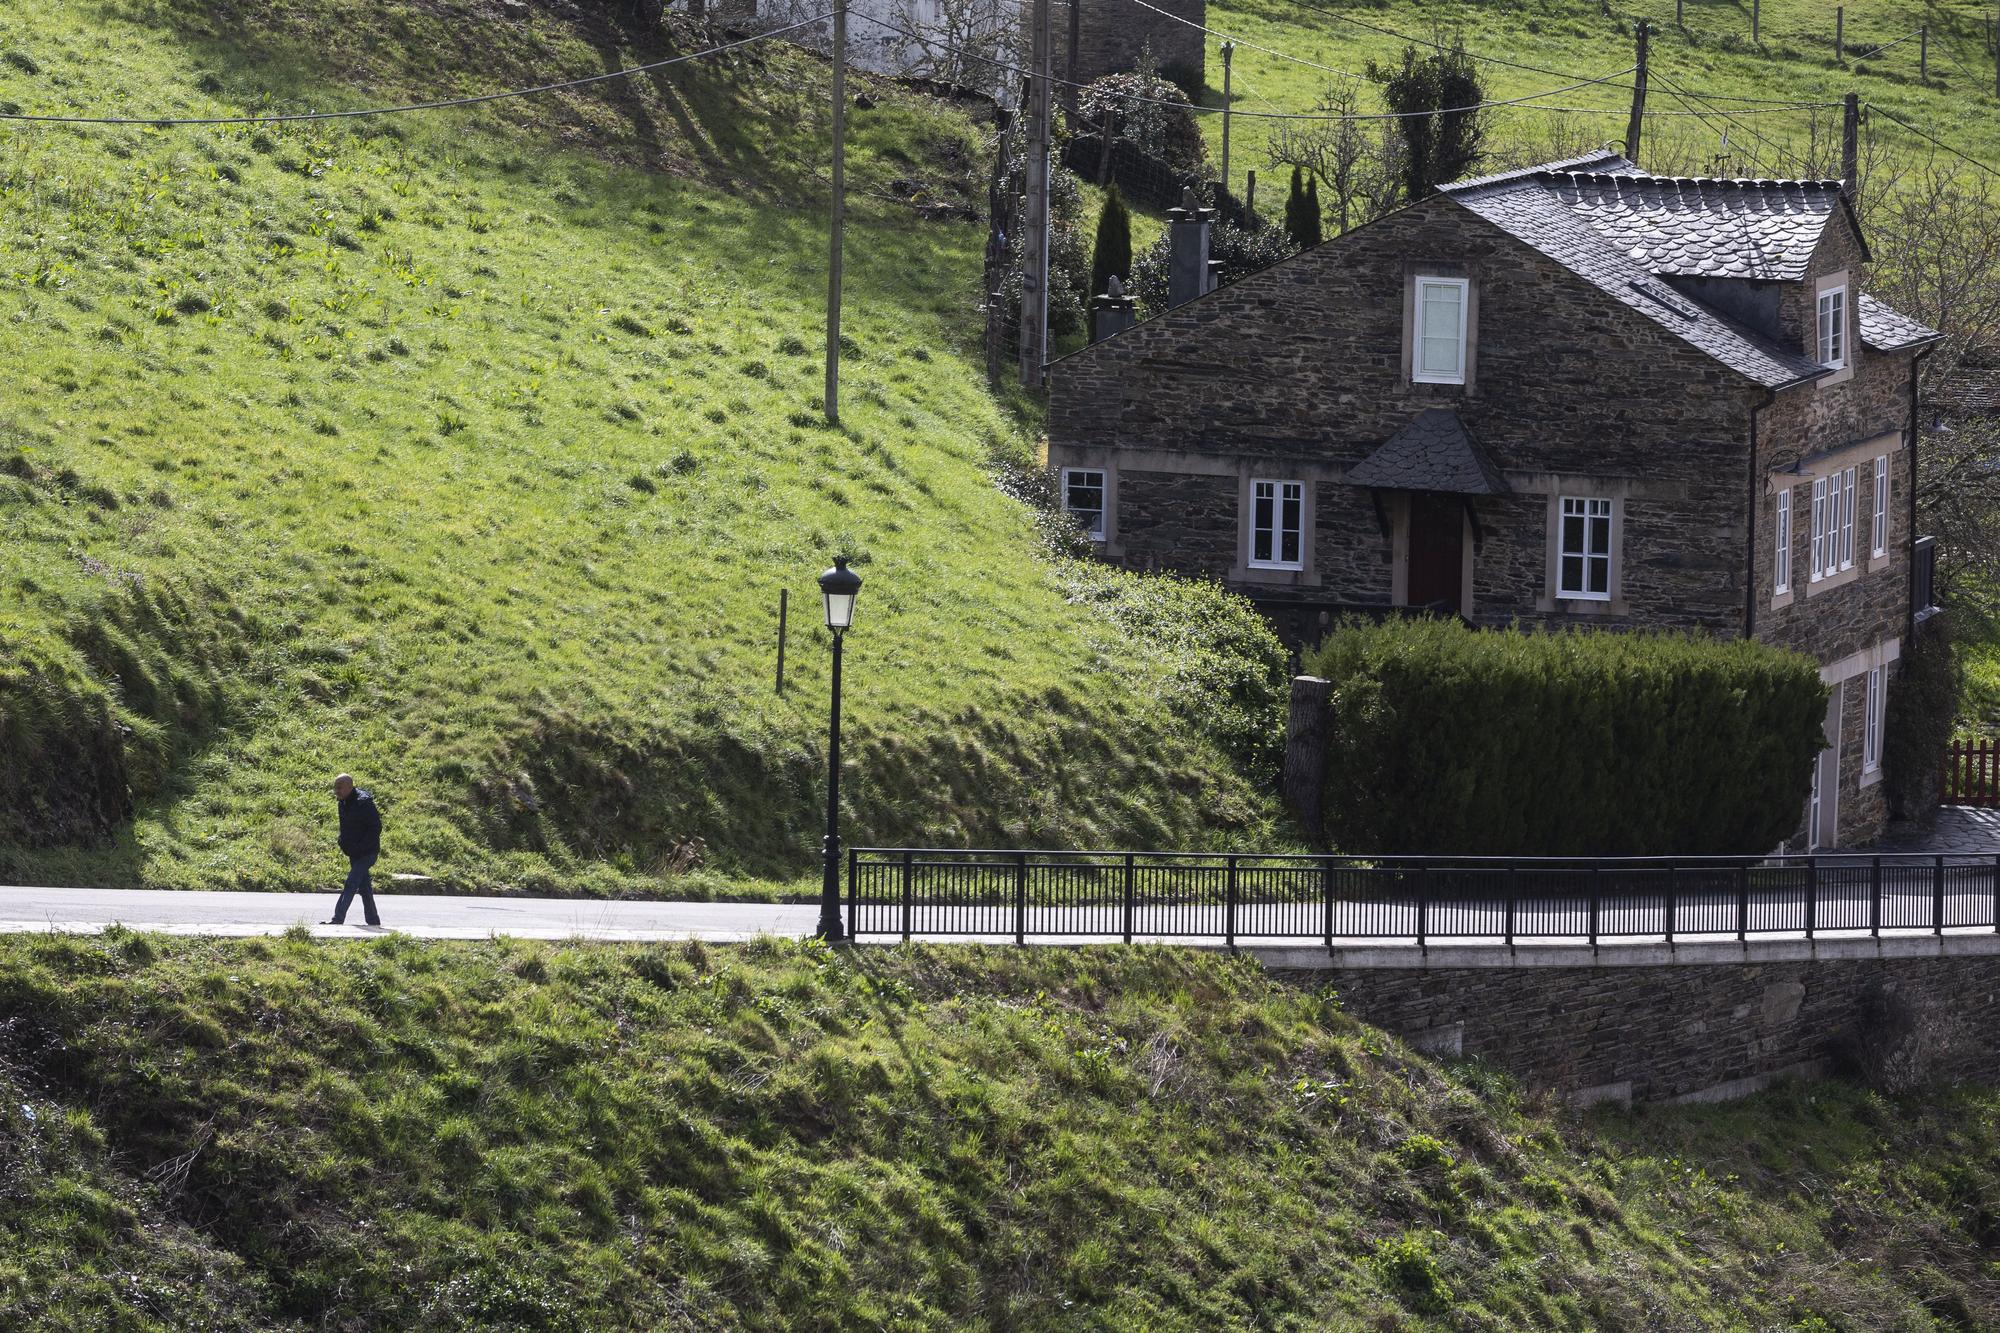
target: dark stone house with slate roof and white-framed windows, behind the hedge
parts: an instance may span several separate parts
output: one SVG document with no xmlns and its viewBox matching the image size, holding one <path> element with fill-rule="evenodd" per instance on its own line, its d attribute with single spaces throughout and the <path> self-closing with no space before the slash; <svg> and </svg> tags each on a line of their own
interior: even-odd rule
<svg viewBox="0 0 2000 1333">
<path fill-rule="evenodd" d="M 1172 228 L 1198 268 L 1206 218 Z M 1610 152 L 1464 180 L 1054 362 L 1048 462 L 1104 558 L 1214 576 L 1294 642 L 1434 608 L 1808 652 L 1834 689 L 1798 845 L 1866 843 L 1938 338 L 1866 266 L 1838 182 Z"/>
</svg>

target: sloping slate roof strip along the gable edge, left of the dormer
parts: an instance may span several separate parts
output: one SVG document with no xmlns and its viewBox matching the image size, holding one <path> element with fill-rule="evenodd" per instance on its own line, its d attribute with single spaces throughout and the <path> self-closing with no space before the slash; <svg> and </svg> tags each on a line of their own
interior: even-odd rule
<svg viewBox="0 0 2000 1333">
<path fill-rule="evenodd" d="M 1630 168 L 1630 162 L 1624 166 Z M 1488 178 L 1486 184 L 1450 184 L 1444 190 L 1464 208 L 1756 384 L 1780 388 L 1824 374 L 1804 350 L 1764 338 L 1666 286 L 1644 260 L 1630 254 L 1630 246 L 1614 244 L 1586 214 L 1564 204 L 1554 190 L 1556 178 L 1554 172 L 1528 170 Z"/>
</svg>

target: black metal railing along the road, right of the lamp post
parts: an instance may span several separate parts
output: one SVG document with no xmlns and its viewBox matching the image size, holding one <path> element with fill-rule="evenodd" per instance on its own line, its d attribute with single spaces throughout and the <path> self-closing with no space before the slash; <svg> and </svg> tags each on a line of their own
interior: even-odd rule
<svg viewBox="0 0 2000 1333">
<path fill-rule="evenodd" d="M 1076 941 L 1692 941 L 2000 931 L 1982 857 L 848 853 L 862 935 Z"/>
</svg>

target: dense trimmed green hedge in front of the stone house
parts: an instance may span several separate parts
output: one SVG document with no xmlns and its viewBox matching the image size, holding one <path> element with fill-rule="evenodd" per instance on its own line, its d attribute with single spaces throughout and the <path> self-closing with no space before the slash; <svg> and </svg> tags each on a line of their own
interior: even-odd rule
<svg viewBox="0 0 2000 1333">
<path fill-rule="evenodd" d="M 1816 664 L 1688 634 L 1346 624 L 1322 823 L 1352 853 L 1764 853 L 1822 745 Z"/>
</svg>

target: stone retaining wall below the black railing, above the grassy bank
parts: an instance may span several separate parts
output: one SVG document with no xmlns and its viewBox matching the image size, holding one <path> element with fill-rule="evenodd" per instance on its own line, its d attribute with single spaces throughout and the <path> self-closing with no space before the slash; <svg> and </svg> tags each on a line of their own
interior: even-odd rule
<svg viewBox="0 0 2000 1333">
<path fill-rule="evenodd" d="M 1996 957 L 1288 975 L 1332 985 L 1350 1013 L 1418 1047 L 1586 1099 L 1732 1095 L 1912 1037 L 1932 1077 L 1992 1081 L 2000 1067 Z"/>
</svg>

